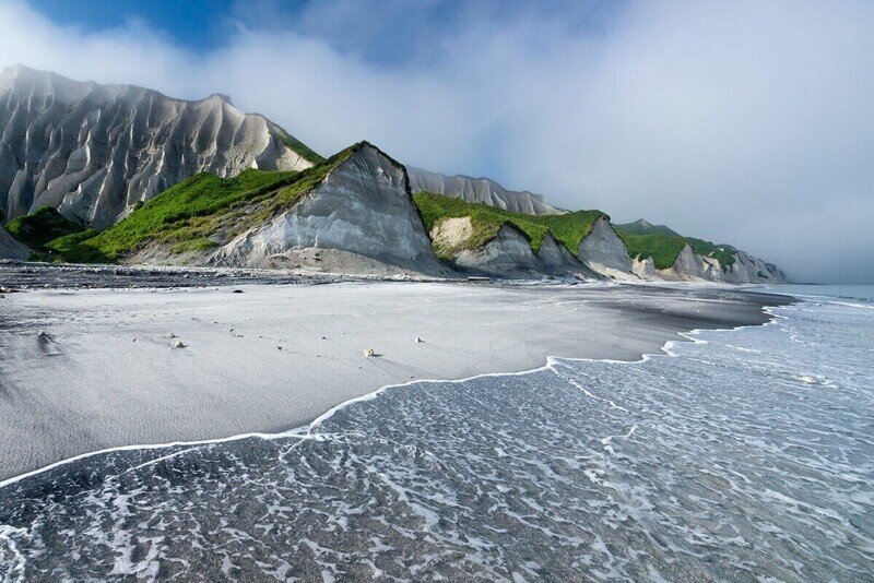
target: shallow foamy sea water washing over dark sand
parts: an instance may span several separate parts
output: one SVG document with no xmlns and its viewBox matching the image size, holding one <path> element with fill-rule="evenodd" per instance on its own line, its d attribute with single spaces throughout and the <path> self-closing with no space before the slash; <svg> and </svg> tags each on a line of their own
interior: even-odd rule
<svg viewBox="0 0 874 583">
<path fill-rule="evenodd" d="M 0 488 L 0 579 L 871 581 L 874 294 Z"/>
</svg>

